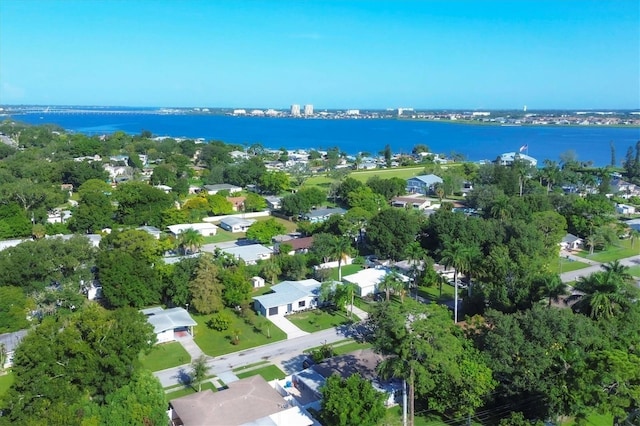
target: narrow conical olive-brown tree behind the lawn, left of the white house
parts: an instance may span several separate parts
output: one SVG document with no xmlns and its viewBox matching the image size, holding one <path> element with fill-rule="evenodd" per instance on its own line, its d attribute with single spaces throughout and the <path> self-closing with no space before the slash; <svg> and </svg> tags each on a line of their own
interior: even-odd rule
<svg viewBox="0 0 640 426">
<path fill-rule="evenodd" d="M 200 256 L 195 277 L 189 282 L 193 308 L 201 314 L 210 314 L 223 308 L 223 284 L 218 267 L 209 253 Z"/>
</svg>

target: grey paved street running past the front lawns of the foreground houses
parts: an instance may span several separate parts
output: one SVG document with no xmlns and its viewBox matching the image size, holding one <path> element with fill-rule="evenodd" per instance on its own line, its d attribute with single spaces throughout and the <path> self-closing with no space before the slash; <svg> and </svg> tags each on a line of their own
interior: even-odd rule
<svg viewBox="0 0 640 426">
<path fill-rule="evenodd" d="M 340 326 L 295 339 L 283 340 L 210 358 L 207 362 L 210 367 L 209 373 L 220 376 L 233 369 L 265 360 L 280 366 L 286 373 L 292 373 L 302 368 L 302 361 L 304 360 L 303 350 L 321 346 L 324 343 L 333 343 L 354 337 L 357 333 L 357 326 Z M 168 387 L 182 383 L 188 373 L 189 365 L 185 364 L 179 367 L 157 371 L 154 374 L 160 380 L 163 387 Z"/>
</svg>

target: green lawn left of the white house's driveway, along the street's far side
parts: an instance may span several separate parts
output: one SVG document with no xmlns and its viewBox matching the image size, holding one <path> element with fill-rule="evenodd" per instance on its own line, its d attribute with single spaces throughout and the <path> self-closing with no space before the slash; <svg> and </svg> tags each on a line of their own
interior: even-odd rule
<svg viewBox="0 0 640 426">
<path fill-rule="evenodd" d="M 266 345 L 267 343 L 285 340 L 287 335 L 271 321 L 258 316 L 255 312 L 249 311 L 248 316 L 255 321 L 258 328 L 247 324 L 238 317 L 232 310 L 227 312 L 233 318 L 233 322 L 228 330 L 216 331 L 207 327 L 206 322 L 211 315 L 192 315 L 198 325 L 195 327 L 195 342 L 200 349 L 209 356 L 219 356 L 231 352 L 237 352 L 255 346 Z M 237 345 L 231 343 L 233 330 L 240 330 L 240 342 Z M 270 333 L 271 338 L 268 338 Z"/>
</svg>

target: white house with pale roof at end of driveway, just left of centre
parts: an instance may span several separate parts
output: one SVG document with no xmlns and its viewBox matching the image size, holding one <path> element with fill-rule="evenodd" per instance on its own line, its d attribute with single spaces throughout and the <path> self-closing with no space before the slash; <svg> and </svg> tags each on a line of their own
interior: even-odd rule
<svg viewBox="0 0 640 426">
<path fill-rule="evenodd" d="M 283 281 L 271 290 L 272 293 L 253 298 L 256 312 L 265 317 L 287 315 L 318 306 L 320 283 L 314 279 Z"/>
</svg>

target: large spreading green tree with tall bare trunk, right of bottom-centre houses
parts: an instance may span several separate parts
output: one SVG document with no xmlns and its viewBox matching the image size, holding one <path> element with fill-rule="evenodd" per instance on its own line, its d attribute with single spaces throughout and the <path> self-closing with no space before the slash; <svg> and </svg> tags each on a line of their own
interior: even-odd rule
<svg viewBox="0 0 640 426">
<path fill-rule="evenodd" d="M 409 425 L 416 398 L 439 413 L 470 415 L 494 389 L 491 370 L 451 323 L 446 307 L 413 300 L 380 303 L 367 320 L 383 378 L 403 379 L 409 388 Z"/>
</svg>

